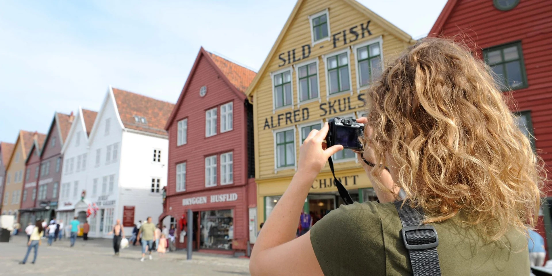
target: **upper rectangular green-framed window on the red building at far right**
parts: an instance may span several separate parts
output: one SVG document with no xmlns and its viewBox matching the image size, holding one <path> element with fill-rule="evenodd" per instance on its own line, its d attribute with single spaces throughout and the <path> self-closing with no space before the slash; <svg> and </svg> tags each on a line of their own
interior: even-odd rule
<svg viewBox="0 0 552 276">
<path fill-rule="evenodd" d="M 485 49 L 483 56 L 503 90 L 527 87 L 521 42 Z"/>
</svg>

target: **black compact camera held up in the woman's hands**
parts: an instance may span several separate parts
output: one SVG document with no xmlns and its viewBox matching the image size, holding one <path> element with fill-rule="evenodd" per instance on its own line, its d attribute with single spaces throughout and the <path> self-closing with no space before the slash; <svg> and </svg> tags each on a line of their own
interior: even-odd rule
<svg viewBox="0 0 552 276">
<path fill-rule="evenodd" d="M 364 124 L 357 123 L 357 120 L 346 118 L 333 118 L 328 121 L 328 135 L 326 146 L 342 145 L 343 148 L 362 151 L 359 137 L 364 136 Z"/>
</svg>

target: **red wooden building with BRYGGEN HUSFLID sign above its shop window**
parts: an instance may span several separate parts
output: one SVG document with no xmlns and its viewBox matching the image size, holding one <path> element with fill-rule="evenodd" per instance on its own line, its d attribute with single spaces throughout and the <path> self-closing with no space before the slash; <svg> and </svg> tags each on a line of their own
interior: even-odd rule
<svg viewBox="0 0 552 276">
<path fill-rule="evenodd" d="M 235 253 L 247 248 L 248 208 L 255 208 L 257 200 L 248 129 L 252 107 L 244 92 L 255 75 L 203 47 L 199 50 L 165 127 L 169 167 L 160 221 L 177 225 L 177 248 L 184 248 L 190 236 L 194 250 Z M 193 217 L 185 217 L 188 209 Z M 181 230 L 189 221 L 194 231 L 181 243 Z"/>
</svg>

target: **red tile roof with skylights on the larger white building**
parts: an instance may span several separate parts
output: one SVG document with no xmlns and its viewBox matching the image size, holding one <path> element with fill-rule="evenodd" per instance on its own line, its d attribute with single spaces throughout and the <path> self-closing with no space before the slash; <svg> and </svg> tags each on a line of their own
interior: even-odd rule
<svg viewBox="0 0 552 276">
<path fill-rule="evenodd" d="M 174 104 L 117 88 L 113 88 L 113 95 L 125 128 L 167 135 L 164 126 Z M 136 122 L 135 116 L 145 118 L 146 122 Z"/>
</svg>

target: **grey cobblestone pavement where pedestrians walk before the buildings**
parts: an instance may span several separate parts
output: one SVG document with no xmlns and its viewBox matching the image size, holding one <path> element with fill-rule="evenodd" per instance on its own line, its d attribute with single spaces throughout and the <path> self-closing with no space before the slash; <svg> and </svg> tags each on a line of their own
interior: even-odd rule
<svg viewBox="0 0 552 276">
<path fill-rule="evenodd" d="M 9 243 L 0 243 L 0 275 L 250 275 L 249 260 L 216 254 L 193 254 L 186 259 L 183 251 L 167 253 L 163 258 L 152 253 L 153 259 L 140 262 L 139 246 L 121 250 L 113 256 L 112 240 L 78 238 L 75 247 L 69 240 L 39 246 L 36 264 L 33 251 L 26 264 L 19 264 L 26 253 L 26 236 L 13 237 Z"/>
</svg>

